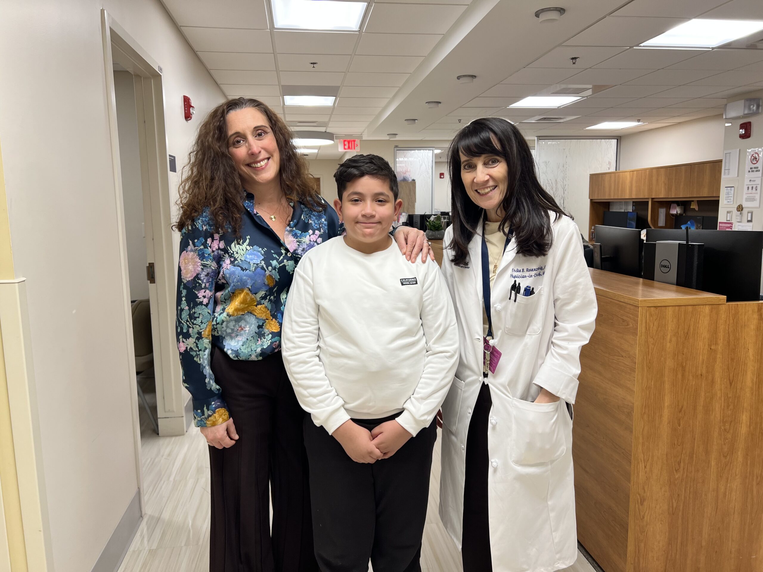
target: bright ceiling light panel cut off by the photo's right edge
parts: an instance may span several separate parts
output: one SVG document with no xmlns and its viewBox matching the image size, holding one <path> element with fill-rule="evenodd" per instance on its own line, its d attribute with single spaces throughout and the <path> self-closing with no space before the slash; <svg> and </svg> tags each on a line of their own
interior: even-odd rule
<svg viewBox="0 0 763 572">
<path fill-rule="evenodd" d="M 641 45 L 667 48 L 713 48 L 763 30 L 763 21 L 691 20 Z"/>
</svg>

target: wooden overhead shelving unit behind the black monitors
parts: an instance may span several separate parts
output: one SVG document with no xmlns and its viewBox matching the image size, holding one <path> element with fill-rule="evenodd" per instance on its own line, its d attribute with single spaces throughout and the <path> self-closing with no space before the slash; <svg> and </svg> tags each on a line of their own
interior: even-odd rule
<svg viewBox="0 0 763 572">
<path fill-rule="evenodd" d="M 670 216 L 665 217 L 664 225 L 658 224 L 659 209 L 669 210 L 671 203 L 719 201 L 722 164 L 720 160 L 703 161 L 592 173 L 588 187 L 589 224 L 593 227 L 604 223 L 604 211 L 610 210 L 610 201 L 643 201 L 648 203 L 650 227 L 673 228 Z"/>
</svg>

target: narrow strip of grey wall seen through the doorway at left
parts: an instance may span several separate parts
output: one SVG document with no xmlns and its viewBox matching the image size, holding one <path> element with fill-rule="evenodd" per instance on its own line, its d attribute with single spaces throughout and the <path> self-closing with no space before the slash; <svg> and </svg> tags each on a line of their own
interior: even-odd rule
<svg viewBox="0 0 763 572">
<path fill-rule="evenodd" d="M 114 72 L 119 124 L 119 157 L 122 167 L 124 233 L 127 238 L 127 269 L 130 273 L 130 300 L 148 298 L 146 280 L 146 239 L 143 230 L 143 186 L 140 182 L 140 149 L 133 75 Z"/>
</svg>

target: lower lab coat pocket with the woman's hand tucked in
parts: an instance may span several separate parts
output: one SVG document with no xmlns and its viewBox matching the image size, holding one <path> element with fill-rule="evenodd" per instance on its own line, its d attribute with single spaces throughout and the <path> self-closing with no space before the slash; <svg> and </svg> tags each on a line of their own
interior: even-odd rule
<svg viewBox="0 0 763 572">
<path fill-rule="evenodd" d="M 549 463 L 567 451 L 561 403 L 512 400 L 511 462 L 517 465 Z M 567 415 L 567 412 L 564 412 Z"/>
</svg>

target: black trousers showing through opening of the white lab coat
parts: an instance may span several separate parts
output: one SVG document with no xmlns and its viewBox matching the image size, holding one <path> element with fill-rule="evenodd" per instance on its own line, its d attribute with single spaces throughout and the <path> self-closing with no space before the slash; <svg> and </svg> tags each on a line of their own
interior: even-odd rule
<svg viewBox="0 0 763 572">
<path fill-rule="evenodd" d="M 482 384 L 466 435 L 464 520 L 461 559 L 464 572 L 491 572 L 490 522 L 488 521 L 488 417 L 493 400 Z"/>
</svg>

